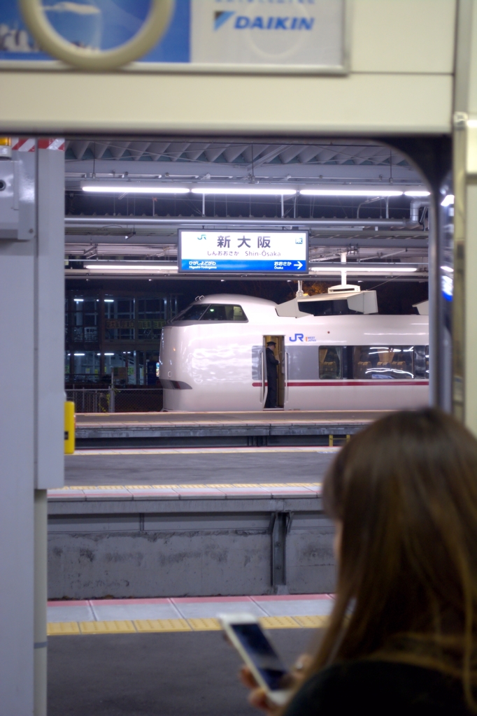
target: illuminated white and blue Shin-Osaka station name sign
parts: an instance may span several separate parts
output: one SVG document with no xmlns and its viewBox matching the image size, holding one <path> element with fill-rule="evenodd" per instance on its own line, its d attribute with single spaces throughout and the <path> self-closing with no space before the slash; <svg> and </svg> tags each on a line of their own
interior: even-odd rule
<svg viewBox="0 0 477 716">
<path fill-rule="evenodd" d="M 179 231 L 179 271 L 306 274 L 307 231 Z"/>
</svg>

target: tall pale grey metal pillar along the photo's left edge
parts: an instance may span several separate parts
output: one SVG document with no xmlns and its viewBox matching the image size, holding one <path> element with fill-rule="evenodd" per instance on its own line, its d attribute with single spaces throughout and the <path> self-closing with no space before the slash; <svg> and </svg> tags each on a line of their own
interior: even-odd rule
<svg viewBox="0 0 477 716">
<path fill-rule="evenodd" d="M 46 715 L 45 490 L 63 482 L 64 143 L 28 142 L 0 238 L 0 716 Z"/>
</svg>

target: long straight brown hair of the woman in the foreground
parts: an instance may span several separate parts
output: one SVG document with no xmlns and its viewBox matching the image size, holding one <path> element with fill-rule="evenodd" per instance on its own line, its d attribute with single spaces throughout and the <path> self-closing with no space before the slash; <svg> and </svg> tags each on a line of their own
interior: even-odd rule
<svg viewBox="0 0 477 716">
<path fill-rule="evenodd" d="M 342 523 L 337 594 L 310 673 L 380 658 L 462 680 L 476 710 L 477 440 L 435 410 L 360 432 L 324 480 Z"/>
</svg>

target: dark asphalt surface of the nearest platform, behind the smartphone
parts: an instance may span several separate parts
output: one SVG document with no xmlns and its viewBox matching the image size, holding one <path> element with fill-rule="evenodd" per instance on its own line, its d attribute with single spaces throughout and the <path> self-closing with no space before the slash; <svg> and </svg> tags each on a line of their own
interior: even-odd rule
<svg viewBox="0 0 477 716">
<path fill-rule="evenodd" d="M 313 629 L 274 629 L 287 667 Z M 258 716 L 222 632 L 84 634 L 48 640 L 48 716 Z"/>
</svg>

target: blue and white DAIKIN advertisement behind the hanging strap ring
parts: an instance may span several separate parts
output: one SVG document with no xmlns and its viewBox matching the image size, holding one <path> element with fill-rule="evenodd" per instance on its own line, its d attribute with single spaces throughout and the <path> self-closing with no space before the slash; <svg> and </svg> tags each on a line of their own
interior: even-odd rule
<svg viewBox="0 0 477 716">
<path fill-rule="evenodd" d="M 143 26 L 151 0 L 42 0 L 52 28 L 107 50 Z M 127 67 L 198 72 L 347 72 L 347 0 L 175 0 L 170 24 Z M 0 67 L 64 69 L 29 34 L 17 0 L 0 0 Z M 52 64 L 55 63 L 55 64 Z"/>
</svg>

